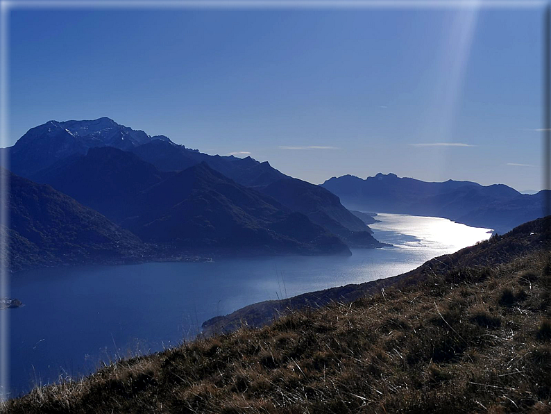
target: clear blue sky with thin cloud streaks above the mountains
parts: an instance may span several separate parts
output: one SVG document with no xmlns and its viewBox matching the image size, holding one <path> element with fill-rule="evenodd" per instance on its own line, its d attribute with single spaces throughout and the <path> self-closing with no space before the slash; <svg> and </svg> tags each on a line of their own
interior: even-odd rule
<svg viewBox="0 0 551 414">
<path fill-rule="evenodd" d="M 12 10 L 10 137 L 164 134 L 300 179 L 539 190 L 542 10 Z"/>
</svg>

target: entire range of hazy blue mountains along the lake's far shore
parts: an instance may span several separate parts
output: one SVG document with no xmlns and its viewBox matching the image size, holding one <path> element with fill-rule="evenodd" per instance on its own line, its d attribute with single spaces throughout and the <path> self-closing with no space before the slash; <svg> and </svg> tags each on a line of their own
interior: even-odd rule
<svg viewBox="0 0 551 414">
<path fill-rule="evenodd" d="M 350 254 L 349 247 L 382 247 L 368 227 L 375 222 L 374 213 L 366 212 L 447 217 L 503 232 L 541 217 L 545 197 L 545 192 L 520 194 L 507 185 L 425 183 L 395 174 L 366 180 L 342 176 L 314 185 L 267 162 L 203 154 L 106 117 L 49 121 L 1 151 L 7 153 L 13 173 L 31 180 L 11 174 L 10 180 L 17 183 L 14 188 L 40 188 L 49 194 L 21 198 L 11 207 L 14 217 L 19 214 L 16 209 L 25 211 L 26 204 L 35 203 L 31 210 L 36 214 L 28 216 L 37 220 L 33 229 L 59 224 L 57 233 L 50 232 L 56 237 L 49 238 L 49 244 L 35 243 L 28 238 L 31 233 L 12 226 L 12 240 L 17 241 L 12 256 L 17 256 L 17 249 L 21 254 L 32 251 L 32 257 L 44 251 L 48 263 L 85 263 L 115 240 L 115 235 L 108 237 L 100 247 L 74 239 L 74 233 L 62 233 L 71 229 L 38 214 L 49 208 L 58 211 L 53 200 L 63 206 L 70 200 L 67 223 L 82 221 L 93 211 L 95 221 L 84 220 L 90 231 L 95 223 L 117 237 L 125 235 L 126 241 L 113 254 L 130 257 L 135 255 L 130 251 L 142 249 L 142 258 L 155 258 L 178 249 L 213 254 Z M 62 249 L 55 240 L 80 240 L 74 242 L 80 253 L 72 261 L 66 252 L 60 256 Z"/>
</svg>

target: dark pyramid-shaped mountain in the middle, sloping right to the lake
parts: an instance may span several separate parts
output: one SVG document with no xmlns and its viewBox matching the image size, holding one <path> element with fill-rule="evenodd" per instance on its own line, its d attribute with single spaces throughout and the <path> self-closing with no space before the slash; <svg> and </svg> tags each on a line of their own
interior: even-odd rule
<svg viewBox="0 0 551 414">
<path fill-rule="evenodd" d="M 206 163 L 139 194 L 137 217 L 123 226 L 142 240 L 247 254 L 350 254 L 305 215 L 239 185 Z"/>
</svg>

